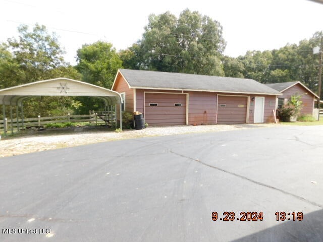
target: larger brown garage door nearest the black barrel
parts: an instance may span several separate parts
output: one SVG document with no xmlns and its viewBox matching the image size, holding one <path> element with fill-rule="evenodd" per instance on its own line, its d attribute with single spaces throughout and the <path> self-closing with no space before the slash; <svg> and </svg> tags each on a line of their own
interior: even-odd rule
<svg viewBox="0 0 323 242">
<path fill-rule="evenodd" d="M 186 95 L 145 93 L 145 122 L 151 126 L 185 125 Z"/>
</svg>

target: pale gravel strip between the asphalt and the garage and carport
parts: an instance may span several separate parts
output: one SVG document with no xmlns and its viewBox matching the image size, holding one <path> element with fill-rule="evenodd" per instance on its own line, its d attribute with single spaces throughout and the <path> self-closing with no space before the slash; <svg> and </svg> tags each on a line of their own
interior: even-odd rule
<svg viewBox="0 0 323 242">
<path fill-rule="evenodd" d="M 0 140 L 0 157 L 13 156 L 43 150 L 73 147 L 98 142 L 133 139 L 151 136 L 166 136 L 189 133 L 223 132 L 250 128 L 275 127 L 275 124 L 258 125 L 205 125 L 148 127 L 143 130 L 124 130 L 122 132 L 104 131 L 102 129 L 70 128 L 65 130 L 30 131 L 29 135 L 10 137 Z"/>
</svg>

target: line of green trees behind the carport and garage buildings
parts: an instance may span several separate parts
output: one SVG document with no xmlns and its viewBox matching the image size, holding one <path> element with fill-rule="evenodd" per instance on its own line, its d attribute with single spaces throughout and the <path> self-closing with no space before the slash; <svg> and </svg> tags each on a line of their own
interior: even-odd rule
<svg viewBox="0 0 323 242">
<path fill-rule="evenodd" d="M 318 46 L 322 32 L 280 49 L 250 50 L 224 55 L 223 27 L 197 11 L 150 15 L 144 33 L 129 48 L 117 51 L 112 43 L 97 41 L 77 50 L 76 66 L 64 60 L 55 33 L 43 25 L 18 27 L 19 37 L 0 43 L 0 89 L 29 82 L 67 77 L 111 88 L 119 68 L 250 78 L 261 83 L 301 81 L 317 91 Z M 85 114 L 102 108 L 89 97 L 34 97 L 25 101 L 26 116 Z"/>
</svg>

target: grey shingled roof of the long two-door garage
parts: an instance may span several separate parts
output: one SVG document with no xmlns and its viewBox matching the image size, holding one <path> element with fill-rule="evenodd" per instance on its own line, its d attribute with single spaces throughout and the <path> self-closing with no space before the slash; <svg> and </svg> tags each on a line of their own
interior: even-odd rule
<svg viewBox="0 0 323 242">
<path fill-rule="evenodd" d="M 130 88 L 282 95 L 252 79 L 120 69 Z"/>
</svg>

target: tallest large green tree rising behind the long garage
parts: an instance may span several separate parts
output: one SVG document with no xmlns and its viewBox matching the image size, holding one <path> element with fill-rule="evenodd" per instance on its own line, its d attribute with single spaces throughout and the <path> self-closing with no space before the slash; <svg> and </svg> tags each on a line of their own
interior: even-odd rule
<svg viewBox="0 0 323 242">
<path fill-rule="evenodd" d="M 121 56 L 132 69 L 223 76 L 225 45 L 218 21 L 186 9 L 178 19 L 150 15 L 141 40 Z"/>
</svg>

